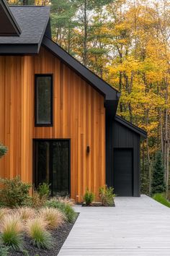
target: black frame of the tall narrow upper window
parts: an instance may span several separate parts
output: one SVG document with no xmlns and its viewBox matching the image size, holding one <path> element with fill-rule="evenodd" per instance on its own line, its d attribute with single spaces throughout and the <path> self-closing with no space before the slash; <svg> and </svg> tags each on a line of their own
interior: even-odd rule
<svg viewBox="0 0 170 256">
<path fill-rule="evenodd" d="M 50 124 L 37 122 L 37 77 L 50 77 Z M 35 127 L 53 127 L 53 74 L 35 74 Z"/>
</svg>

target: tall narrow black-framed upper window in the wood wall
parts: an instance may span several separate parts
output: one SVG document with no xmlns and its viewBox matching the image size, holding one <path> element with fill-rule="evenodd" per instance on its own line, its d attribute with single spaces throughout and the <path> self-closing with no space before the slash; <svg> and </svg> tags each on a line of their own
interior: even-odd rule
<svg viewBox="0 0 170 256">
<path fill-rule="evenodd" d="M 35 126 L 53 125 L 53 76 L 35 74 Z"/>
</svg>

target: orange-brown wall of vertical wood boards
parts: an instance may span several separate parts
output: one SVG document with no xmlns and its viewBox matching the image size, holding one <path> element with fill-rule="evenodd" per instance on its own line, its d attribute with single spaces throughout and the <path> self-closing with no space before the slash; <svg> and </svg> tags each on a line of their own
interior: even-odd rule
<svg viewBox="0 0 170 256">
<path fill-rule="evenodd" d="M 53 74 L 53 127 L 34 125 L 34 74 Z M 32 139 L 71 139 L 71 197 L 105 184 L 104 97 L 45 48 L 0 56 L 0 176 L 32 182 Z M 89 145 L 90 153 L 86 153 Z M 77 197 L 79 196 L 79 197 Z"/>
</svg>

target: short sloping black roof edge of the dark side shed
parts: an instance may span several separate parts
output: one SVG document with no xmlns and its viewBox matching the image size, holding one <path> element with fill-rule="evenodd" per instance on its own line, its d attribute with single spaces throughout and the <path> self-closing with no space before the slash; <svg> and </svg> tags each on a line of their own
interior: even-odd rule
<svg viewBox="0 0 170 256">
<path fill-rule="evenodd" d="M 138 133 L 138 135 L 140 135 L 143 139 L 147 138 L 146 131 L 137 127 L 135 124 L 130 123 L 130 121 L 123 119 L 121 116 L 116 115 L 115 121 L 118 121 L 120 124 L 125 125 L 125 127 L 128 127 L 129 129 L 133 130 L 133 132 Z"/>
</svg>

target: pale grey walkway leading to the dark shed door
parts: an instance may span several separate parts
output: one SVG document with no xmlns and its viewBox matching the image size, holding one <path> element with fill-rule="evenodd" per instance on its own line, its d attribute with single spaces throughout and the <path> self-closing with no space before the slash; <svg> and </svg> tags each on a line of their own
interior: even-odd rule
<svg viewBox="0 0 170 256">
<path fill-rule="evenodd" d="M 81 208 L 59 252 L 69 255 L 170 255 L 170 209 L 145 195 L 117 197 L 115 208 Z"/>
</svg>

